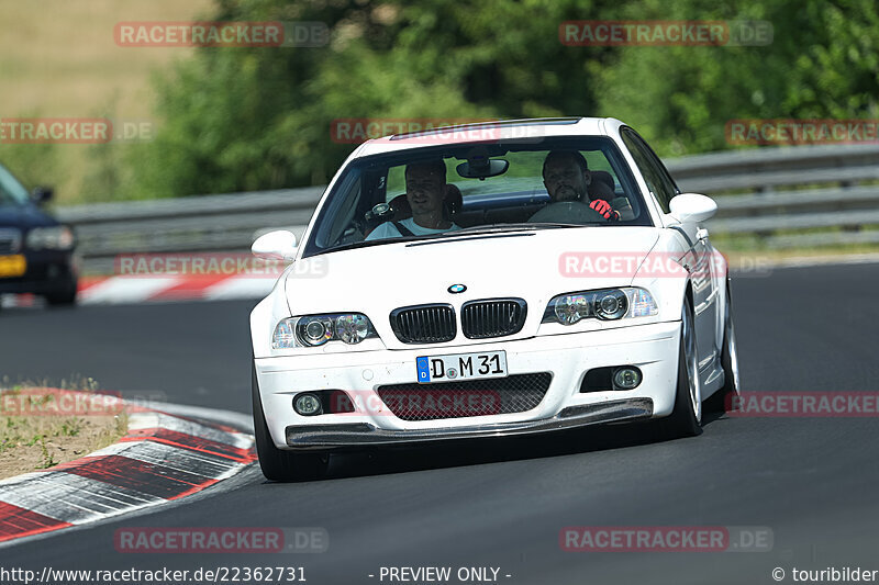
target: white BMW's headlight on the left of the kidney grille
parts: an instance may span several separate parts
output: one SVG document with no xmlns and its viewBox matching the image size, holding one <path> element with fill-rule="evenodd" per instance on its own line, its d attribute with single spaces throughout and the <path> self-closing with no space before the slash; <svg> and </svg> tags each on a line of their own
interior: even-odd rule
<svg viewBox="0 0 879 585">
<path fill-rule="evenodd" d="M 369 337 L 378 337 L 378 334 L 369 317 L 360 313 L 308 315 L 278 323 L 271 336 L 271 348 L 316 347 L 327 341 L 353 346 Z"/>
</svg>

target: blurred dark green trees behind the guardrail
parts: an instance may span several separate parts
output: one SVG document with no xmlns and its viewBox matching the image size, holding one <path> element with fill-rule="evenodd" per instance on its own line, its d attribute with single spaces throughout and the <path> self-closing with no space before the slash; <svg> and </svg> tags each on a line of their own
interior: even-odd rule
<svg viewBox="0 0 879 585">
<path fill-rule="evenodd" d="M 325 183 L 354 148 L 330 138 L 336 119 L 610 115 L 672 157 L 730 148 L 731 119 L 879 117 L 875 0 L 216 0 L 208 18 L 321 21 L 331 41 L 199 48 L 165 67 L 155 139 L 93 147 L 71 199 Z M 601 19 L 765 20 L 775 35 L 752 47 L 559 42 L 563 21 Z"/>
</svg>

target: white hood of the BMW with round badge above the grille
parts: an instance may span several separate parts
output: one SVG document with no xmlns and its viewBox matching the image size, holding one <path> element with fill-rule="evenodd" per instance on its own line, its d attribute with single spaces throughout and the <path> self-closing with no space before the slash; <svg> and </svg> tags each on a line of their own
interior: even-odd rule
<svg viewBox="0 0 879 585">
<path fill-rule="evenodd" d="M 467 301 L 514 296 L 527 302 L 528 317 L 510 339 L 528 337 L 553 296 L 630 284 L 658 234 L 655 227 L 548 228 L 330 252 L 290 267 L 287 300 L 292 315 L 364 313 L 390 347 L 394 308 L 448 303 L 459 313 Z M 624 261 L 611 265 L 610 258 Z M 452 293 L 453 284 L 466 290 Z"/>
</svg>

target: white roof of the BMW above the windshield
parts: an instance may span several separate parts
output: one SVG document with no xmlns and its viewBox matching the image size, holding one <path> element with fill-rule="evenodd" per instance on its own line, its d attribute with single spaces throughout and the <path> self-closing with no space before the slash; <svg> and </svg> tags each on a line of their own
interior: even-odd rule
<svg viewBox="0 0 879 585">
<path fill-rule="evenodd" d="M 392 134 L 361 144 L 353 157 L 436 146 L 497 139 L 543 138 L 546 136 L 608 136 L 623 123 L 613 117 L 539 117 L 499 120 L 442 126 L 421 132 Z"/>
</svg>

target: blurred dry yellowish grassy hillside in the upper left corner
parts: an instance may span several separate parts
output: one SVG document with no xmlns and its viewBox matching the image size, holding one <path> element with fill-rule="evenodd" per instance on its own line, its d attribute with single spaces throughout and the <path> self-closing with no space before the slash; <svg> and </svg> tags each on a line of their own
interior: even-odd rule
<svg viewBox="0 0 879 585">
<path fill-rule="evenodd" d="M 114 25 L 192 20 L 210 14 L 212 5 L 212 0 L 0 2 L 0 117 L 153 120 L 151 76 L 192 49 L 120 47 Z M 29 188 L 55 187 L 59 203 L 113 199 L 89 187 L 104 170 L 90 145 L 0 144 L 0 162 Z"/>
</svg>

